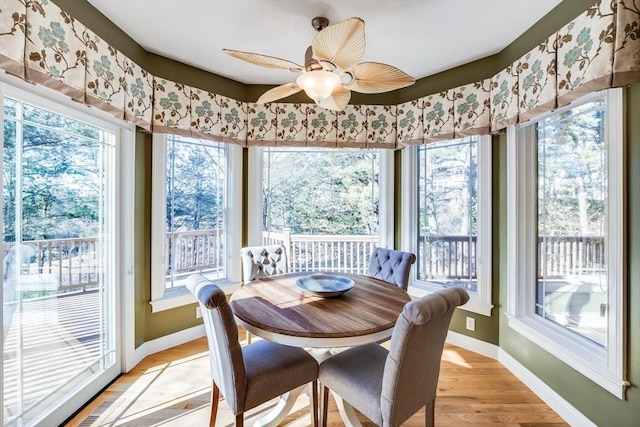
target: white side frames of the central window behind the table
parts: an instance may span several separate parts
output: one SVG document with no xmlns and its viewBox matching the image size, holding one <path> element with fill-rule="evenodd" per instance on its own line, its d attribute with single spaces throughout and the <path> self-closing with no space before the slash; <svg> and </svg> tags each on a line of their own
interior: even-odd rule
<svg viewBox="0 0 640 427">
<path fill-rule="evenodd" d="M 295 148 L 295 147 L 292 147 Z M 339 148 L 336 148 L 339 150 Z M 378 246 L 393 248 L 393 150 L 380 148 L 380 233 Z M 249 148 L 248 173 L 248 245 L 262 245 L 262 155 L 261 147 Z"/>
</svg>

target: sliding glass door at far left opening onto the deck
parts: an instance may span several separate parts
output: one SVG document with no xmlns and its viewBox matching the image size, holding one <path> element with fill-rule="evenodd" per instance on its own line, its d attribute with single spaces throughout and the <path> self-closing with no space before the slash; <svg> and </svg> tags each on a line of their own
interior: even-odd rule
<svg viewBox="0 0 640 427">
<path fill-rule="evenodd" d="M 9 93 L 1 97 L 3 424 L 56 425 L 120 372 L 119 130 Z"/>
</svg>

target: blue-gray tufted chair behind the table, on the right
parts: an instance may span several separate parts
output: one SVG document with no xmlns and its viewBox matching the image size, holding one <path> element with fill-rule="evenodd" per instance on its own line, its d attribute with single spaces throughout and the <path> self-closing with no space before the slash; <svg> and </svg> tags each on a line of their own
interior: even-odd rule
<svg viewBox="0 0 640 427">
<path fill-rule="evenodd" d="M 409 286 L 409 272 L 414 262 L 416 256 L 411 252 L 375 248 L 369 259 L 367 274 L 398 285 L 406 291 Z"/>
</svg>

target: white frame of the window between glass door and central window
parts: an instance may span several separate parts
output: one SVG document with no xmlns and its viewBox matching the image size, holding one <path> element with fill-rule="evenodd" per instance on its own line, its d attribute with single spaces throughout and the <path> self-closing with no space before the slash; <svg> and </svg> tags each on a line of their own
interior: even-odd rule
<svg viewBox="0 0 640 427">
<path fill-rule="evenodd" d="M 227 277 L 216 281 L 226 293 L 240 285 L 240 252 L 242 240 L 242 147 L 227 144 L 227 188 L 225 190 Z M 151 311 L 153 313 L 192 304 L 196 300 L 184 286 L 166 289 L 167 256 L 165 245 L 167 135 L 153 135 L 151 197 Z"/>
</svg>

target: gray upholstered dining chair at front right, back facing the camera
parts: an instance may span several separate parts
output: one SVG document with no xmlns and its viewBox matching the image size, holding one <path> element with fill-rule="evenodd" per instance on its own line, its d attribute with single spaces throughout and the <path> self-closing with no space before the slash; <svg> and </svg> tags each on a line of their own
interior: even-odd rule
<svg viewBox="0 0 640 427">
<path fill-rule="evenodd" d="M 362 412 L 379 426 L 398 426 L 426 405 L 426 425 L 434 423 L 440 359 L 451 316 L 469 300 L 448 288 L 408 302 L 393 330 L 390 349 L 378 344 L 352 347 L 320 364 L 322 424 L 327 388 L 341 412 Z M 356 423 L 357 424 L 357 423 Z"/>
</svg>

